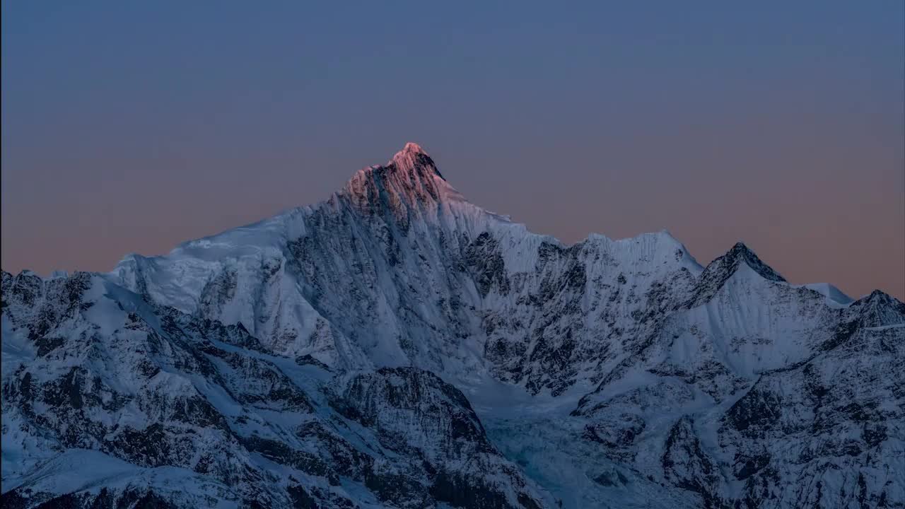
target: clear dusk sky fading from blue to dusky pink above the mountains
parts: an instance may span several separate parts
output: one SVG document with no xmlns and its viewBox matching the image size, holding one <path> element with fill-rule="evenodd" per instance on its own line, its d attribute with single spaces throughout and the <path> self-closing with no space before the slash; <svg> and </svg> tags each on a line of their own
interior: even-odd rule
<svg viewBox="0 0 905 509">
<path fill-rule="evenodd" d="M 5 0 L 3 268 L 166 253 L 416 141 L 565 242 L 905 298 L 905 3 L 614 4 Z"/>
</svg>

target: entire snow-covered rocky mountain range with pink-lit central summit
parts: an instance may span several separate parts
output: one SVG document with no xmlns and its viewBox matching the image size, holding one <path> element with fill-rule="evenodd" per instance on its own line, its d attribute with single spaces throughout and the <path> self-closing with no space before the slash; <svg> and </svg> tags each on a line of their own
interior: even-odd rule
<svg viewBox="0 0 905 509">
<path fill-rule="evenodd" d="M 4 506 L 905 506 L 905 304 L 741 244 L 563 245 L 412 143 L 2 294 Z"/>
</svg>

